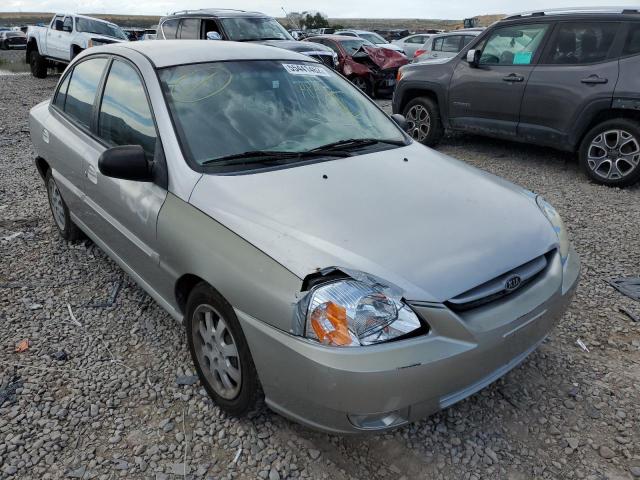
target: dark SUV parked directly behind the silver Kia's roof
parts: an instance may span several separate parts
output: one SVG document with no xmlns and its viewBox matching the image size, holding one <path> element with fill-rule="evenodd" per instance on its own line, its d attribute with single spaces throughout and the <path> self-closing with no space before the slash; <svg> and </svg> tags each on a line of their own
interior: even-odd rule
<svg viewBox="0 0 640 480">
<path fill-rule="evenodd" d="M 323 45 L 296 41 L 275 18 L 244 10 L 204 9 L 175 12 L 160 19 L 158 40 L 255 42 L 308 55 L 335 68 L 338 57 Z"/>
</svg>

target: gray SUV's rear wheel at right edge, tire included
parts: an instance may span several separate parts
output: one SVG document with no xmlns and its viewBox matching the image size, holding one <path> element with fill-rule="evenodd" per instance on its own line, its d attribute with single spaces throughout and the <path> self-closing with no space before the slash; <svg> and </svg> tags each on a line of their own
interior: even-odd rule
<svg viewBox="0 0 640 480">
<path fill-rule="evenodd" d="M 589 130 L 579 150 L 580 166 L 594 182 L 629 187 L 640 180 L 640 123 L 607 120 Z"/>
</svg>

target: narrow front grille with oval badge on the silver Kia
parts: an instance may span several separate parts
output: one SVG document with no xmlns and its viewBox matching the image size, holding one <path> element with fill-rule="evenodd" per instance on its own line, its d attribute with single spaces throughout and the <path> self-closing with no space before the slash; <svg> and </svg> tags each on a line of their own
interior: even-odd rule
<svg viewBox="0 0 640 480">
<path fill-rule="evenodd" d="M 536 278 L 546 270 L 547 266 L 551 263 L 554 252 L 555 250 L 540 255 L 499 277 L 489 280 L 471 290 L 467 290 L 445 302 L 445 305 L 453 311 L 464 312 L 515 293 L 525 285 L 535 281 Z"/>
</svg>

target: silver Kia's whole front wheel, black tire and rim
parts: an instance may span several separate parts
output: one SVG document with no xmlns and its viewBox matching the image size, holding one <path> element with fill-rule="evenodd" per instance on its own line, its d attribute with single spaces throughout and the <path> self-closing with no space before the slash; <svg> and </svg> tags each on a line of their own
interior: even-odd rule
<svg viewBox="0 0 640 480">
<path fill-rule="evenodd" d="M 187 300 L 185 326 L 198 377 L 213 401 L 233 416 L 254 410 L 262 390 L 249 345 L 229 302 L 210 285 L 199 283 Z"/>
</svg>

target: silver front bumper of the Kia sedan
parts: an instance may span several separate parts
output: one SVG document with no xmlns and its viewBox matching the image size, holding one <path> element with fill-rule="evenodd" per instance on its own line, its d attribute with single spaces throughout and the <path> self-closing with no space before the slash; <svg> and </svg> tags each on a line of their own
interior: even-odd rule
<svg viewBox="0 0 640 480">
<path fill-rule="evenodd" d="M 384 430 L 446 408 L 522 362 L 567 308 L 580 262 L 572 250 L 549 268 L 542 284 L 464 318 L 414 302 L 431 332 L 377 346 L 324 347 L 238 318 L 273 410 L 329 432 Z"/>
</svg>

